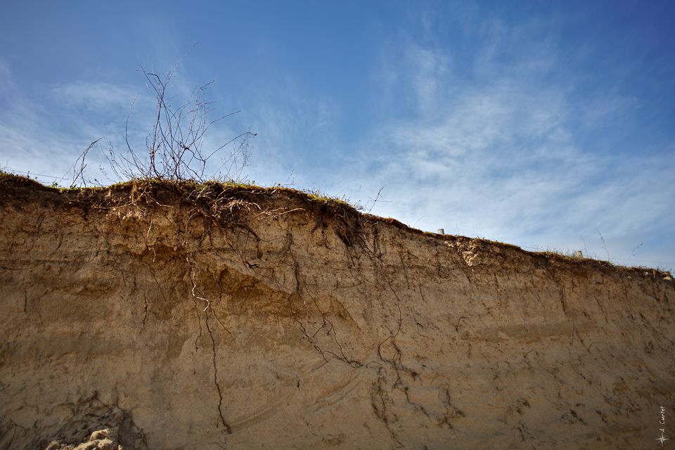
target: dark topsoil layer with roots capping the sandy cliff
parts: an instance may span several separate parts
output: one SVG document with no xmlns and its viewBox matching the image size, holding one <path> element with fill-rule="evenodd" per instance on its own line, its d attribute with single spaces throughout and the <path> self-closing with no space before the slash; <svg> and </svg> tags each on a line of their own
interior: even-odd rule
<svg viewBox="0 0 675 450">
<path fill-rule="evenodd" d="M 629 274 L 650 278 L 671 278 L 669 272 L 657 269 L 617 266 L 606 261 L 570 257 L 555 252 L 529 252 L 515 245 L 483 238 L 428 233 L 413 229 L 396 219 L 364 214 L 344 200 L 280 186 L 262 187 L 236 183 L 222 184 L 215 181 L 196 183 L 194 181 L 150 179 L 132 180 L 107 187 L 54 188 L 44 186 L 25 176 L 0 172 L 0 207 L 16 200 L 24 204 L 42 203 L 45 206 L 57 204 L 63 207 L 79 207 L 84 212 L 109 209 L 110 207 L 131 203 L 138 205 L 139 202 L 147 202 L 148 205 L 185 203 L 198 207 L 205 216 L 217 221 L 231 220 L 233 205 L 236 206 L 236 202 L 239 200 L 243 204 L 257 205 L 262 210 L 274 210 L 275 212 L 304 210 L 309 212 L 316 219 L 318 225 L 335 226 L 338 236 L 347 246 L 359 245 L 359 240 L 356 237 L 366 227 L 384 223 L 430 239 L 444 240 L 459 245 L 473 243 L 478 245 L 480 250 L 491 252 L 494 256 L 496 256 L 495 248 L 515 252 L 522 256 L 527 255 L 539 259 L 541 265 L 551 266 L 550 268 L 556 266 L 560 269 L 572 269 L 572 271 L 593 269 L 603 272 L 628 272 Z M 230 214 L 223 216 L 221 210 L 228 210 Z M 507 255 L 499 256 L 508 257 Z"/>
</svg>

